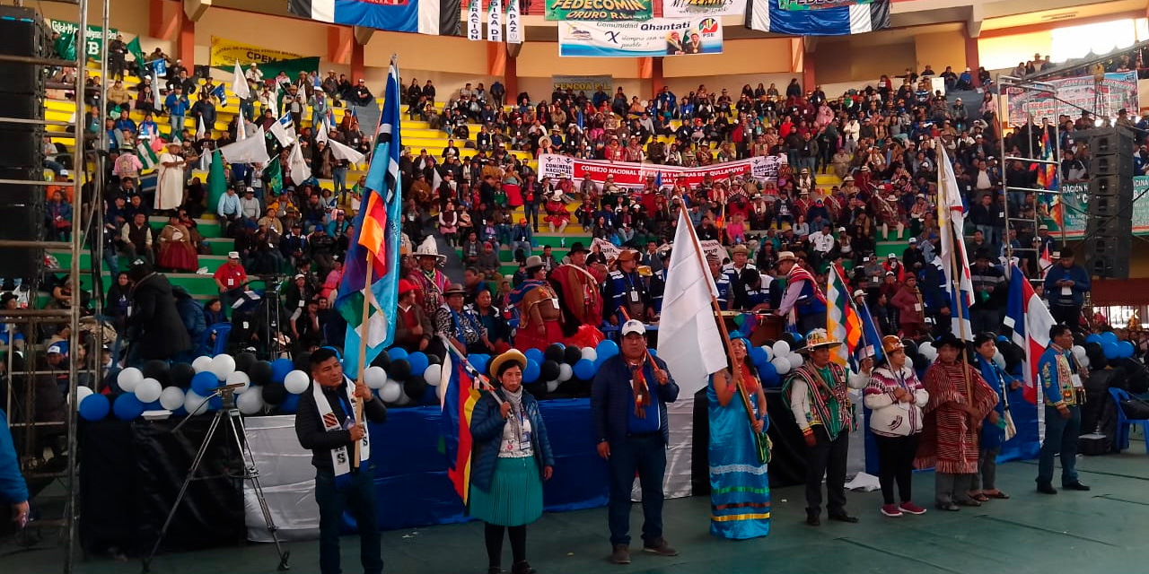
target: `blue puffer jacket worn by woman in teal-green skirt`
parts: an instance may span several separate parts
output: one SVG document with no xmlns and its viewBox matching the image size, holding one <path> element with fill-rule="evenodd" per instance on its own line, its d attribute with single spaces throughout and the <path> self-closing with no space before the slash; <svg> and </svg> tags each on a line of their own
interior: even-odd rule
<svg viewBox="0 0 1149 574">
<path fill-rule="evenodd" d="M 502 390 L 496 390 L 499 398 L 506 400 Z M 554 466 L 555 456 L 550 451 L 550 440 L 547 439 L 547 426 L 539 412 L 539 402 L 530 393 L 523 393 L 523 410 L 531 419 L 531 447 L 534 449 L 534 461 L 539 466 L 539 478 L 542 478 L 543 466 Z M 471 486 L 485 492 L 491 491 L 491 482 L 495 476 L 495 464 L 499 461 L 499 447 L 502 444 L 502 430 L 507 419 L 499 412 L 499 403 L 489 393 L 475 403 L 471 412 Z"/>
</svg>

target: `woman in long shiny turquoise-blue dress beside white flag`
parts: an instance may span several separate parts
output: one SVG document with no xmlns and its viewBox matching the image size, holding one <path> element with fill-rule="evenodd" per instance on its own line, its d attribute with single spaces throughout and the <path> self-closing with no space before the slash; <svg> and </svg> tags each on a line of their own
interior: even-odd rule
<svg viewBox="0 0 1149 574">
<path fill-rule="evenodd" d="M 731 340 L 730 367 L 710 377 L 710 534 L 746 540 L 770 534 L 770 426 L 766 395 L 747 360 L 746 339 Z M 739 396 L 741 382 L 749 398 Z M 751 422 L 753 419 L 753 422 Z M 761 442 L 759 442 L 761 439 Z M 761 444 L 761 447 L 759 447 Z"/>
</svg>

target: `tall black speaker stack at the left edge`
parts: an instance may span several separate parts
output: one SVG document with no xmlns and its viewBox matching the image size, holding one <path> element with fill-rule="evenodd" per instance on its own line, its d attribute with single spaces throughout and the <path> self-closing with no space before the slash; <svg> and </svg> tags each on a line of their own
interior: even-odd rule
<svg viewBox="0 0 1149 574">
<path fill-rule="evenodd" d="M 31 8 L 0 7 L 0 54 L 52 56 L 52 32 Z M 0 61 L 0 117 L 44 119 L 47 68 Z M 44 125 L 0 122 L 0 179 L 44 180 Z M 0 184 L 0 239 L 44 239 L 45 187 Z M 44 264 L 44 249 L 0 248 L 0 277 L 32 278 Z"/>
</svg>

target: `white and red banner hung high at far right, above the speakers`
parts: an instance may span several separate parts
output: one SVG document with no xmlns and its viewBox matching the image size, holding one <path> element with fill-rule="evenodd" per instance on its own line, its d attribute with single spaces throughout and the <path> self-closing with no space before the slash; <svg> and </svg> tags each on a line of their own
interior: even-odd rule
<svg viewBox="0 0 1149 574">
<path fill-rule="evenodd" d="M 1094 110 L 1097 117 L 1117 117 L 1120 109 L 1136 110 L 1138 72 L 1106 73 L 1100 83 L 1094 76 L 1049 82 L 1056 87 L 1054 94 L 1007 88 L 1009 98 L 1010 125 L 1025 125 L 1028 115 L 1035 122 L 1049 118 L 1056 122 L 1059 115 L 1078 116 L 1081 109 Z"/>
</svg>

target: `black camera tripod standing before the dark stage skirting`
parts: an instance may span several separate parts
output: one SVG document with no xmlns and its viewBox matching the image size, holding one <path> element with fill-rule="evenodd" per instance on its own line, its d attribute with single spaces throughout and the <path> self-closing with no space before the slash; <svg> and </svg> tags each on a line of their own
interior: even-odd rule
<svg viewBox="0 0 1149 574">
<path fill-rule="evenodd" d="M 228 426 L 231 428 L 231 437 L 234 441 L 236 448 L 239 449 L 239 456 L 244 460 L 244 474 L 239 478 L 241 480 L 252 481 L 252 488 L 255 491 L 255 497 L 260 501 L 260 510 L 263 512 L 263 521 L 267 523 L 268 533 L 271 534 L 271 540 L 276 544 L 276 553 L 279 554 L 278 569 L 284 572 L 291 567 L 287 565 L 291 551 L 285 551 L 283 545 L 279 543 L 279 536 L 276 534 L 276 530 L 279 528 L 271 518 L 271 510 L 268 507 L 268 501 L 263 496 L 263 487 L 260 484 L 260 470 L 255 466 L 255 456 L 247 442 L 247 429 L 244 427 L 244 418 L 240 416 L 239 409 L 236 408 L 236 389 L 239 387 L 242 387 L 242 385 L 226 385 L 216 388 L 211 395 L 203 400 L 203 403 L 200 403 L 200 406 L 202 406 L 211 398 L 221 397 L 223 398 L 223 409 L 216 411 L 215 417 L 211 419 L 211 425 L 208 427 L 208 432 L 203 436 L 200 450 L 195 453 L 195 458 L 192 460 L 192 467 L 187 471 L 187 478 L 184 479 L 184 484 L 179 487 L 179 495 L 176 496 L 176 502 L 172 503 L 171 510 L 168 511 L 168 518 L 163 521 L 163 528 L 160 529 L 160 535 L 155 538 L 155 544 L 152 545 L 152 551 L 148 552 L 147 558 L 144 559 L 142 572 L 145 574 L 152 572 L 152 560 L 155 558 L 156 551 L 160 550 L 160 544 L 163 543 L 163 538 L 168 534 L 168 527 L 171 526 L 171 521 L 176 517 L 176 511 L 179 510 L 179 503 L 183 502 L 184 495 L 187 494 L 187 487 L 191 486 L 193 480 L 195 480 L 195 472 L 199 470 L 200 463 L 203 461 L 203 456 L 207 453 L 208 445 L 211 443 L 211 437 L 215 436 L 216 430 L 219 428 L 219 422 L 224 419 L 224 417 L 228 418 Z M 200 406 L 196 406 L 195 410 L 199 410 Z M 191 417 L 176 425 L 176 428 L 171 429 L 171 432 L 178 433 L 188 420 L 191 420 Z"/>
</svg>

